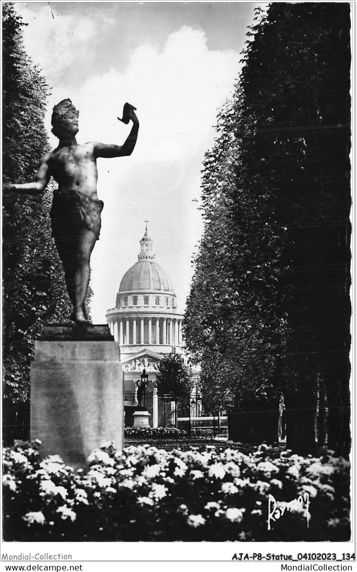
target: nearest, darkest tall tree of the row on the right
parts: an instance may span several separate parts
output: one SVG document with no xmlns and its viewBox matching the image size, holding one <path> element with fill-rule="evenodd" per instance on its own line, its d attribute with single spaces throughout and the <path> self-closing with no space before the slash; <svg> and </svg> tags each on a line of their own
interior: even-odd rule
<svg viewBox="0 0 357 572">
<path fill-rule="evenodd" d="M 314 441 L 317 380 L 326 386 L 329 445 L 349 447 L 350 7 L 276 4 L 255 27 L 241 77 L 255 140 L 245 147 L 287 228 L 279 289 L 288 441 Z M 304 431 L 305 428 L 305 431 Z M 303 430 L 302 430 L 303 429 Z M 288 443 L 289 444 L 289 443 Z"/>
</svg>

